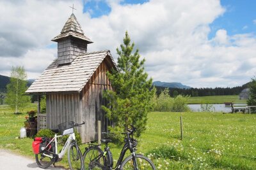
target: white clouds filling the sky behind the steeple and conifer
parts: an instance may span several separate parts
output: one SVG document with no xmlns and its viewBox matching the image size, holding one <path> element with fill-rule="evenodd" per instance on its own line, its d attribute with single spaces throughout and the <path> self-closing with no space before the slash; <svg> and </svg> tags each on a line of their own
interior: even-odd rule
<svg viewBox="0 0 256 170">
<path fill-rule="evenodd" d="M 8 62 L 8 66 L 22 63 L 31 78 L 42 73 L 56 56 L 56 49 L 45 46 L 60 33 L 72 3 L 1 1 L 0 45 L 3 41 L 7 47 L 13 43 L 12 48 L 20 48 L 19 59 L 10 50 L 6 50 L 8 56 L 0 52 L 1 63 Z M 88 51 L 110 49 L 116 58 L 115 49 L 128 31 L 147 60 L 145 69 L 154 80 L 178 81 L 192 87 L 234 87 L 250 81 L 256 73 L 253 34 L 228 36 L 225 29 L 220 29 L 214 38 L 207 38 L 211 31 L 209 24 L 225 12 L 220 1 L 152 0 L 125 6 L 118 1 L 108 3 L 111 6 L 108 16 L 90 18 L 89 12 L 83 13 L 82 1 L 74 2 L 77 20 L 86 36 L 95 42 L 88 45 Z M 5 38 L 6 32 L 20 37 L 20 42 Z M 0 74 L 6 73 L 5 67 L 0 69 Z"/>
</svg>

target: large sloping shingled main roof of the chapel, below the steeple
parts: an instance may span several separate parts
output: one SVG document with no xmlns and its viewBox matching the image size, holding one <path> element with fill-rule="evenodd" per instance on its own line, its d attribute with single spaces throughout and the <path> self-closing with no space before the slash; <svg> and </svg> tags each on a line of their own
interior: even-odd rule
<svg viewBox="0 0 256 170">
<path fill-rule="evenodd" d="M 26 93 L 80 92 L 106 57 L 110 57 L 116 67 L 109 50 L 83 53 L 71 64 L 62 66 L 58 65 L 56 59 L 33 82 Z"/>
</svg>

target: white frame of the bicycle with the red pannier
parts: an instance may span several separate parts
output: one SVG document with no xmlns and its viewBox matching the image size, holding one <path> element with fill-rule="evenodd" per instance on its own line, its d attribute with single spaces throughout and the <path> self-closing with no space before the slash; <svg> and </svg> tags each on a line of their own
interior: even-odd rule
<svg viewBox="0 0 256 170">
<path fill-rule="evenodd" d="M 54 144 L 55 144 L 55 155 L 58 155 L 58 158 L 59 159 L 62 159 L 63 156 L 65 155 L 65 153 L 67 152 L 67 148 L 68 146 L 70 145 L 70 143 L 73 141 L 73 140 L 76 140 L 76 136 L 75 136 L 75 133 L 72 133 L 68 136 L 68 139 L 65 143 L 65 145 L 63 146 L 62 150 L 60 153 L 58 153 L 58 142 L 57 142 L 57 138 L 60 138 L 61 136 L 63 135 L 57 135 L 57 134 L 54 134 L 54 138 L 51 139 L 51 141 L 48 143 L 47 146 L 45 146 L 45 148 L 47 148 L 53 141 L 54 141 Z M 50 157 L 51 159 L 53 158 L 51 155 L 47 155 L 45 153 L 43 153 L 43 155 L 45 155 L 46 157 Z"/>
</svg>

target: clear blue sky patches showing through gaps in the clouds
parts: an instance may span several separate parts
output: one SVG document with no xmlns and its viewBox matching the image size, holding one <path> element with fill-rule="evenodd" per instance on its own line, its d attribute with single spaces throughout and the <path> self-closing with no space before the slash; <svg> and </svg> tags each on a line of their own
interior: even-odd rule
<svg viewBox="0 0 256 170">
<path fill-rule="evenodd" d="M 120 4 L 143 4 L 147 0 L 125 0 Z M 213 38 L 218 29 L 225 29 L 230 36 L 234 34 L 254 33 L 256 30 L 256 1 L 255 0 L 221 0 L 225 13 L 212 22 L 209 39 Z M 83 12 L 88 11 L 92 18 L 108 15 L 111 8 L 106 1 L 88 1 L 84 3 Z M 255 22 L 253 23 L 253 20 Z"/>
</svg>

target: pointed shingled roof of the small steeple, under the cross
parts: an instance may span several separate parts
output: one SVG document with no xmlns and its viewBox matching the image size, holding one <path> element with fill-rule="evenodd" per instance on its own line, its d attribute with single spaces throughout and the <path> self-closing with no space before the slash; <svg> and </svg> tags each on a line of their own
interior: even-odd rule
<svg viewBox="0 0 256 170">
<path fill-rule="evenodd" d="M 70 15 L 67 22 L 65 23 L 61 34 L 52 39 L 52 41 L 58 41 L 59 39 L 67 38 L 68 36 L 73 36 L 75 38 L 83 39 L 87 43 L 93 43 L 88 37 L 84 35 L 81 25 L 78 23 L 74 13 Z"/>
</svg>

